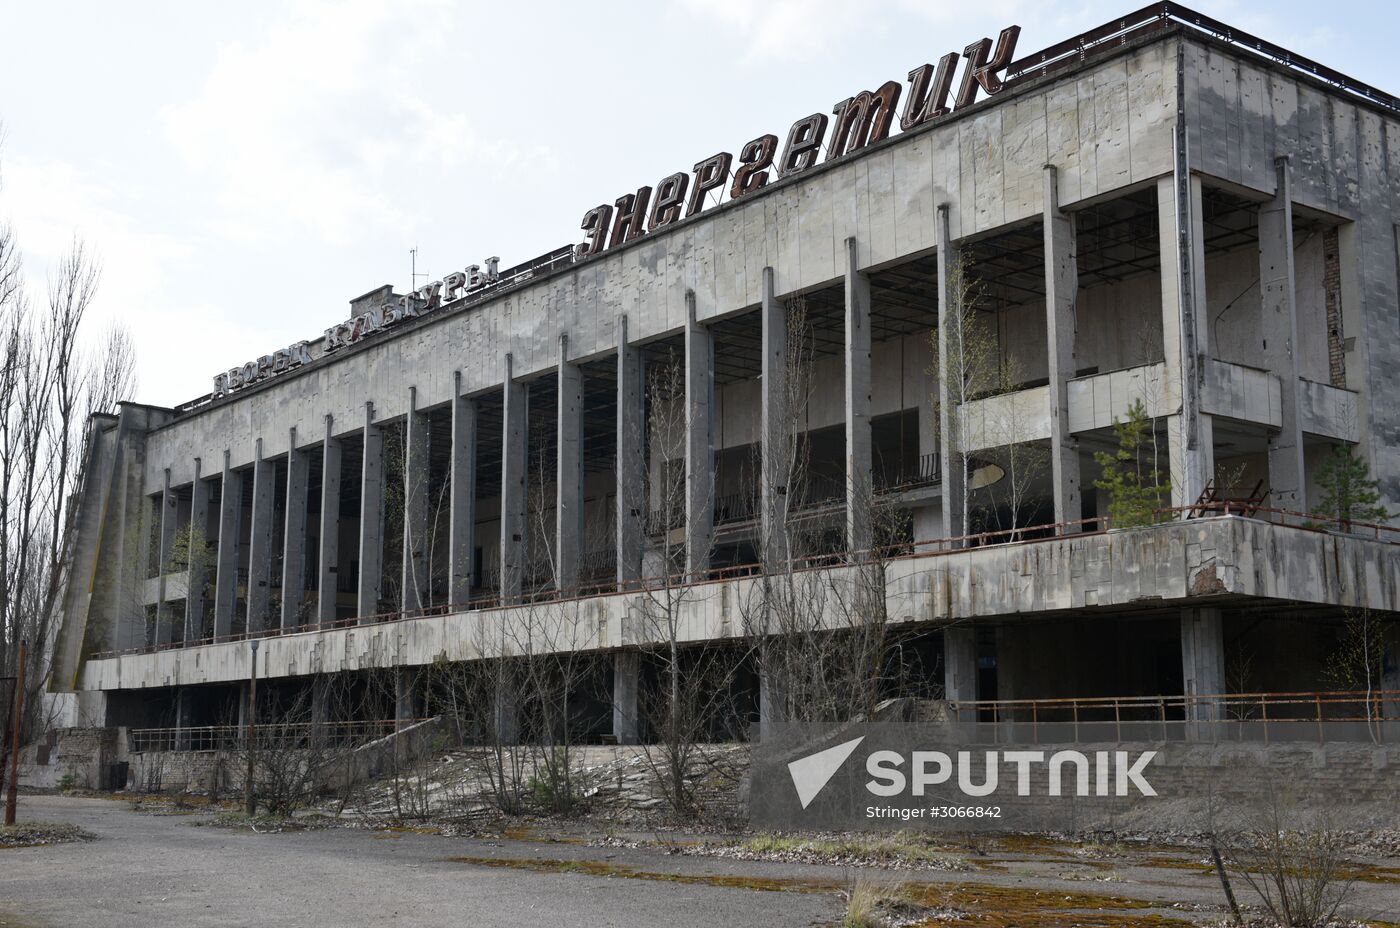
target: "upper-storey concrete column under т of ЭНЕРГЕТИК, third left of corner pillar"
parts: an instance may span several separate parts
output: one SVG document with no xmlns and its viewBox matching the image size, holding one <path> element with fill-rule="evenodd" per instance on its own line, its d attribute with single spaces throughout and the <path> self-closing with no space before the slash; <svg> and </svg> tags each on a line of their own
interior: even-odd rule
<svg viewBox="0 0 1400 928">
<path fill-rule="evenodd" d="M 846 546 L 868 551 L 871 483 L 871 281 L 860 272 L 855 238 L 846 239 Z"/>
</svg>

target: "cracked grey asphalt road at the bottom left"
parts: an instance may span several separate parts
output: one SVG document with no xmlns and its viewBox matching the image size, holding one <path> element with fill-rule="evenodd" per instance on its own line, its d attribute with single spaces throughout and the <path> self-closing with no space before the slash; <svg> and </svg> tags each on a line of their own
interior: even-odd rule
<svg viewBox="0 0 1400 928">
<path fill-rule="evenodd" d="M 557 858 L 563 845 L 347 829 L 253 834 L 193 827 L 190 816 L 132 812 L 125 802 L 66 796 L 25 796 L 21 815 L 71 822 L 99 840 L 0 851 L 4 928 L 713 928 L 830 924 L 839 914 L 834 894 L 497 869 L 448 859 Z M 591 858 L 612 857 L 638 869 L 745 872 L 742 865 L 717 866 L 724 861 L 589 851 Z"/>
</svg>

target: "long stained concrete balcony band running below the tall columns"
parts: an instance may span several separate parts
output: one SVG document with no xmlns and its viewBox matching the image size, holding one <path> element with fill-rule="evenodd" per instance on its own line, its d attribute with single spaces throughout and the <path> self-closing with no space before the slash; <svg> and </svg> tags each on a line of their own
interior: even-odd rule
<svg viewBox="0 0 1400 928">
<path fill-rule="evenodd" d="M 840 589 L 853 582 L 847 571 L 813 571 L 802 582 Z M 1229 516 L 907 557 L 889 563 L 886 579 L 890 614 L 907 623 L 1252 596 L 1393 610 L 1400 607 L 1400 547 Z M 743 634 L 746 617 L 757 621 L 759 602 L 752 578 L 697 584 L 680 605 L 682 637 Z M 258 672 L 301 676 L 414 666 L 519 654 L 526 645 L 619 648 L 654 637 L 647 603 L 647 593 L 615 593 L 280 635 L 263 640 Z M 88 661 L 81 687 L 244 680 L 249 658 L 244 641 L 104 658 Z"/>
</svg>

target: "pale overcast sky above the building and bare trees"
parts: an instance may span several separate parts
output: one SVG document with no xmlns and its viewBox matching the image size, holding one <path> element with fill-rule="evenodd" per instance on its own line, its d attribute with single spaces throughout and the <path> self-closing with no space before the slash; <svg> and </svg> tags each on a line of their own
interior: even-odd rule
<svg viewBox="0 0 1400 928">
<path fill-rule="evenodd" d="M 0 217 L 35 294 L 74 234 L 136 399 L 490 255 L 580 241 L 589 207 L 1012 22 L 1019 52 L 1140 6 L 1005 0 L 0 0 Z M 1400 92 L 1390 4 L 1201 11 Z"/>
</svg>

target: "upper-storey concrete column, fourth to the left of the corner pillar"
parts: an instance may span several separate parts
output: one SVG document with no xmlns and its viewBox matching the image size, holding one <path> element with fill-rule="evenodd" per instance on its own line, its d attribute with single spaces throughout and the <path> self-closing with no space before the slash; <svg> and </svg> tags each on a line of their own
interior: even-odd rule
<svg viewBox="0 0 1400 928">
<path fill-rule="evenodd" d="M 762 477 L 759 483 L 759 519 L 763 565 L 771 571 L 791 560 L 787 537 L 788 514 L 788 442 L 797 424 L 788 409 L 788 330 L 787 307 L 773 295 L 773 269 L 763 269 L 763 302 L 759 328 L 763 360 L 759 377 L 762 393 L 760 441 Z"/>
</svg>

